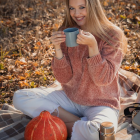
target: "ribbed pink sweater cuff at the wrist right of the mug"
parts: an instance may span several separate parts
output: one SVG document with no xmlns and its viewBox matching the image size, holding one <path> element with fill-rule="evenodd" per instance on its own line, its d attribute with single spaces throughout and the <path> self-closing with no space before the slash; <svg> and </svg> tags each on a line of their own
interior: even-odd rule
<svg viewBox="0 0 140 140">
<path fill-rule="evenodd" d="M 97 65 L 102 61 L 101 54 L 97 54 L 93 57 L 87 58 L 87 62 L 90 66 Z"/>
</svg>

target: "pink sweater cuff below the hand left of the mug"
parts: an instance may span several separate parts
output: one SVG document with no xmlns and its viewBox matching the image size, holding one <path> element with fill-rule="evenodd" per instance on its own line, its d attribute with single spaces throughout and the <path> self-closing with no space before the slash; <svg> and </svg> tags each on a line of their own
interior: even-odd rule
<svg viewBox="0 0 140 140">
<path fill-rule="evenodd" d="M 68 62 L 66 60 L 65 55 L 61 59 L 58 59 L 58 58 L 54 57 L 54 67 L 64 68 L 64 67 L 67 67 L 67 66 L 68 66 Z"/>
</svg>

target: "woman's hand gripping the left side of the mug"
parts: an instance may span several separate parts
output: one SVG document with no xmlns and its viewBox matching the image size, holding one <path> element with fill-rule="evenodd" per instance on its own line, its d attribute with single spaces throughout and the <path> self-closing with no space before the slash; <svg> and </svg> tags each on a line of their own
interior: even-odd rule
<svg viewBox="0 0 140 140">
<path fill-rule="evenodd" d="M 53 43 L 55 49 L 59 49 L 60 48 L 60 44 L 62 42 L 64 42 L 65 39 L 66 39 L 66 35 L 64 34 L 63 31 L 53 32 L 52 36 L 50 38 L 50 40 Z"/>
</svg>

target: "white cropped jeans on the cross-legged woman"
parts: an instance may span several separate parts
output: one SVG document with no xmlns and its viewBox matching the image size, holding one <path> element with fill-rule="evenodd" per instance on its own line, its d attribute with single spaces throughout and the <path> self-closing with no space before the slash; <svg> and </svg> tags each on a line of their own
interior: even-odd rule
<svg viewBox="0 0 140 140">
<path fill-rule="evenodd" d="M 73 126 L 71 140 L 99 140 L 100 123 L 112 122 L 117 130 L 119 111 L 107 106 L 83 106 L 72 102 L 63 90 L 53 88 L 22 89 L 14 93 L 13 104 L 15 108 L 24 114 L 34 118 L 41 111 L 50 113 L 59 106 L 78 117 L 86 117 L 87 120 L 79 120 Z"/>
</svg>

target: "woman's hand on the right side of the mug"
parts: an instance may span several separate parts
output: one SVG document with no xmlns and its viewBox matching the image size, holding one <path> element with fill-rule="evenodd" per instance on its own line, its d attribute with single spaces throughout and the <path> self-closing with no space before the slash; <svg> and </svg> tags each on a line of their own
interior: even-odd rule
<svg viewBox="0 0 140 140">
<path fill-rule="evenodd" d="M 97 45 L 97 41 L 95 37 L 89 33 L 80 30 L 79 34 L 77 35 L 77 43 L 82 45 L 88 45 L 88 47 L 94 47 Z"/>
</svg>

